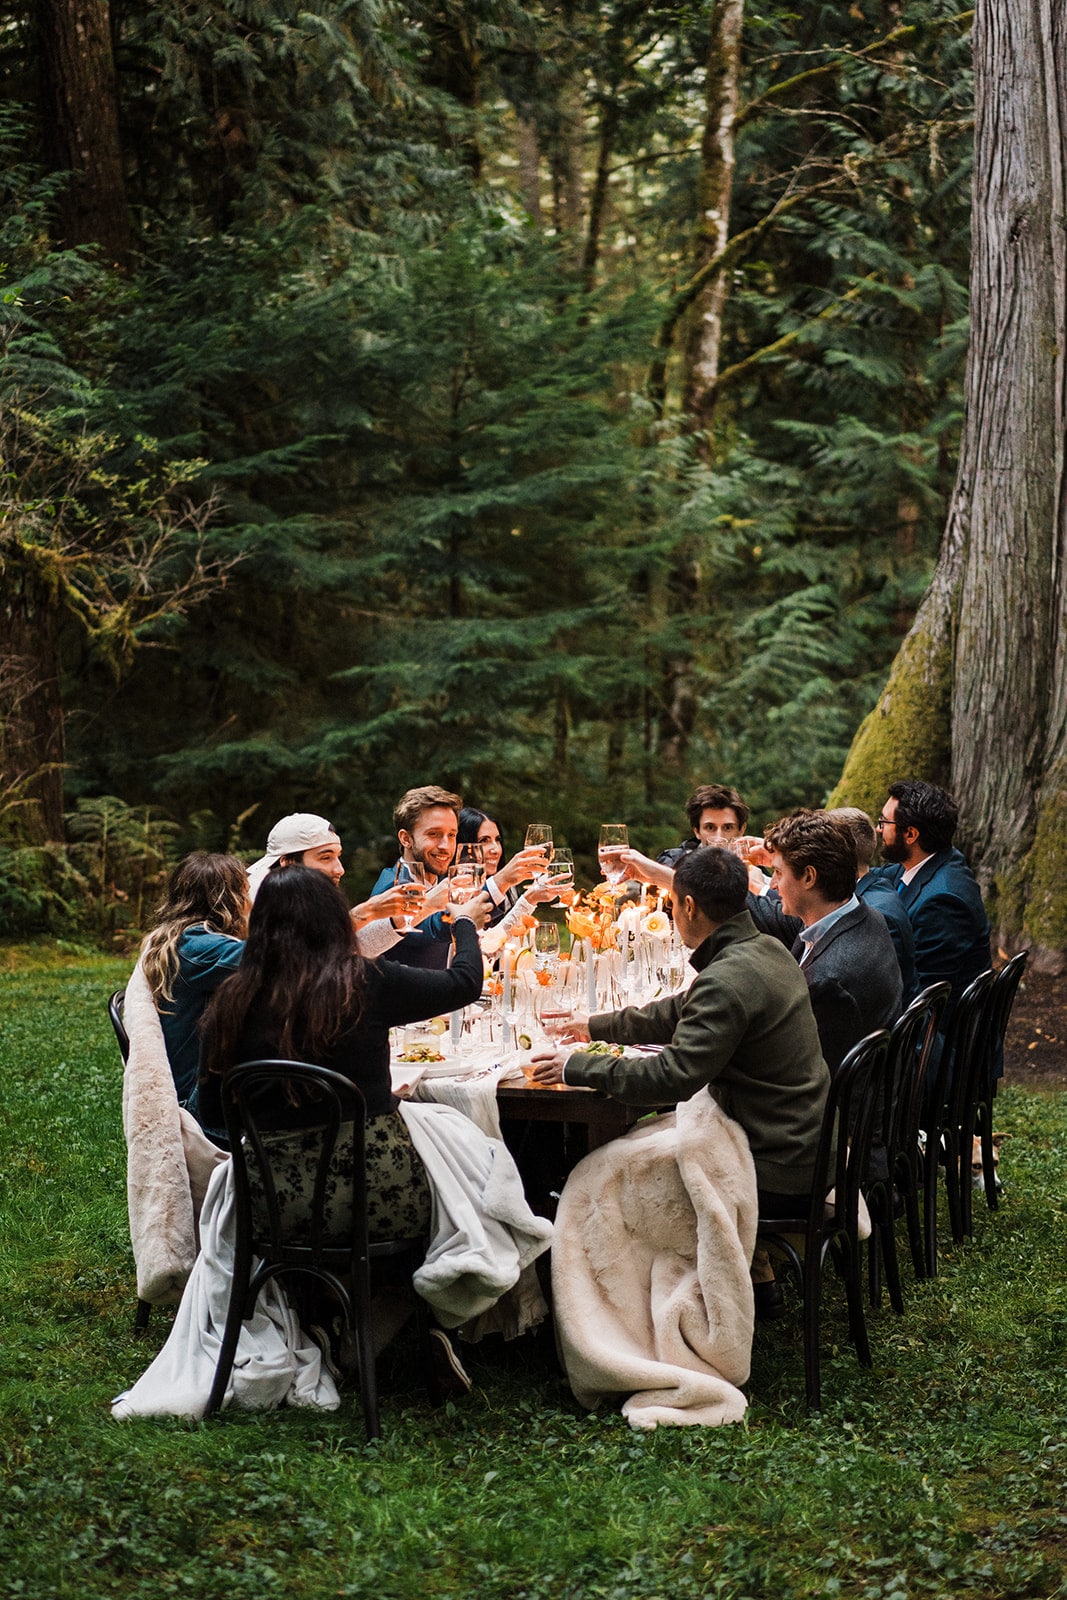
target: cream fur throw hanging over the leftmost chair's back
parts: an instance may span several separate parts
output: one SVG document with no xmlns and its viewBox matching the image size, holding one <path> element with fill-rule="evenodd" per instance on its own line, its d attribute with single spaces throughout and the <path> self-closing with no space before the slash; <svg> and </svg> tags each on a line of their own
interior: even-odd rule
<svg viewBox="0 0 1067 1600">
<path fill-rule="evenodd" d="M 122 1123 L 138 1298 L 166 1306 L 181 1299 L 197 1259 L 197 1221 L 208 1181 L 229 1155 L 178 1106 L 160 1014 L 139 963 L 126 984 L 123 1022 L 130 1059 Z"/>
</svg>

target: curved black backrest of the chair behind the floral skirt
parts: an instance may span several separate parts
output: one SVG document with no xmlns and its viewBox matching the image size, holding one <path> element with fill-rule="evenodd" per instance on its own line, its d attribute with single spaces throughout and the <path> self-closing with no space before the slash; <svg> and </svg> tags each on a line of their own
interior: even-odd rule
<svg viewBox="0 0 1067 1600">
<path fill-rule="evenodd" d="M 304 1061 L 246 1061 L 222 1080 L 238 1238 L 309 1266 L 366 1256 L 366 1104 L 350 1078 Z M 299 1126 L 294 1126 L 299 1123 Z M 338 1195 L 350 1224 L 331 1227 Z"/>
</svg>

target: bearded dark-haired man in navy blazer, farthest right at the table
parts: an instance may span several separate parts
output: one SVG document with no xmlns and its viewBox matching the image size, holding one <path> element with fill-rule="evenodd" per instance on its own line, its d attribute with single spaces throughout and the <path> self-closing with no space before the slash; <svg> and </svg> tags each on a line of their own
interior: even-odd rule
<svg viewBox="0 0 1067 1600">
<path fill-rule="evenodd" d="M 990 965 L 982 891 L 952 848 L 958 810 L 937 784 L 917 778 L 889 786 L 877 827 L 888 867 L 878 872 L 904 906 L 915 936 L 920 986 L 947 979 L 950 1005 Z"/>
</svg>

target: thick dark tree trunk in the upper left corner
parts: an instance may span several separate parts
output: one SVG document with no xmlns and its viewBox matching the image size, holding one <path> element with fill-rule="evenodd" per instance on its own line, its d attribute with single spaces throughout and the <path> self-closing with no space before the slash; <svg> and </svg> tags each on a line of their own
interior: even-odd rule
<svg viewBox="0 0 1067 1600">
<path fill-rule="evenodd" d="M 107 0 L 37 0 L 42 128 L 59 195 L 62 245 L 98 245 L 130 261 L 130 214 L 118 139 L 118 86 Z"/>
</svg>

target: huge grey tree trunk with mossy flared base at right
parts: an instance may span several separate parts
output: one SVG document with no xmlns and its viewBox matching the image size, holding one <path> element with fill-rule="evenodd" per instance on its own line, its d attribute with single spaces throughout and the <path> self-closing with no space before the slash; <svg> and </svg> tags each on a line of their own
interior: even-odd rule
<svg viewBox="0 0 1067 1600">
<path fill-rule="evenodd" d="M 1005 942 L 1067 955 L 1067 16 L 979 0 L 971 347 L 933 586 L 835 803 L 947 779 Z"/>
</svg>

